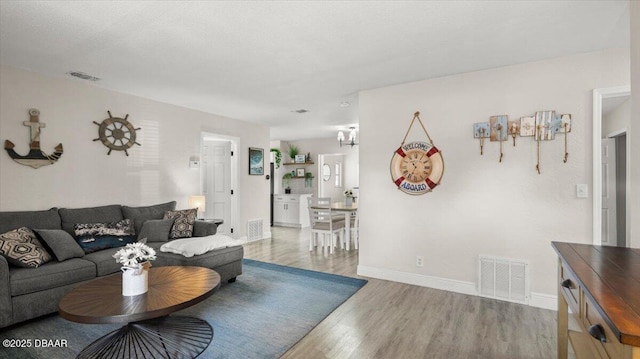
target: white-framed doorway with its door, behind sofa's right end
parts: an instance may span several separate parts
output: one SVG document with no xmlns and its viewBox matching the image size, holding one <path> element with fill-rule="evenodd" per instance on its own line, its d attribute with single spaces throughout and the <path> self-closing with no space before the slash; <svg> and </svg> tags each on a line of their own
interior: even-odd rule
<svg viewBox="0 0 640 359">
<path fill-rule="evenodd" d="M 211 133 L 201 138 L 201 192 L 205 196 L 205 218 L 222 219 L 217 233 L 234 236 L 237 215 L 238 139 Z"/>
</svg>

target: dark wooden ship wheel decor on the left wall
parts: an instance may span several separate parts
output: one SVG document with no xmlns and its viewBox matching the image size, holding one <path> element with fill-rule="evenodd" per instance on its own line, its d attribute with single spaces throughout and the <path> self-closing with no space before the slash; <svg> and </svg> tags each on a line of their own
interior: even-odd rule
<svg viewBox="0 0 640 359">
<path fill-rule="evenodd" d="M 111 116 L 111 112 L 107 111 L 109 114 L 109 118 L 105 119 L 101 123 L 93 121 L 98 128 L 98 138 L 94 138 L 94 141 L 101 141 L 103 145 L 109 148 L 109 152 L 107 155 L 111 154 L 111 151 L 124 151 L 124 153 L 129 156 L 129 152 L 127 150 L 133 145 L 141 146 L 138 142 L 136 142 L 136 131 L 140 129 L 134 128 L 131 122 L 127 121 L 129 115 L 127 114 L 124 118 L 113 117 Z"/>
</svg>

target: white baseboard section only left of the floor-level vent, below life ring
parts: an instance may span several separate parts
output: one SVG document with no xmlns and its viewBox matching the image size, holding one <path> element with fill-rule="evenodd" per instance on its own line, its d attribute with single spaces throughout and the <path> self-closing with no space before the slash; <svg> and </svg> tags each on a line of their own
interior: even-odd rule
<svg viewBox="0 0 640 359">
<path fill-rule="evenodd" d="M 415 273 L 399 272 L 388 269 L 358 266 L 358 275 L 363 277 L 378 278 L 394 282 L 418 285 L 434 289 L 442 289 L 450 292 L 477 295 L 476 284 L 455 279 L 426 276 Z"/>
</svg>

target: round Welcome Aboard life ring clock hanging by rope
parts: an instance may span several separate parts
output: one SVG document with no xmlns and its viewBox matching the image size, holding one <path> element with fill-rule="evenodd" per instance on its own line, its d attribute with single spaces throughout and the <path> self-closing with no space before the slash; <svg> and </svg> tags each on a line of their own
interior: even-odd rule
<svg viewBox="0 0 640 359">
<path fill-rule="evenodd" d="M 416 119 L 420 122 L 429 142 L 418 141 L 405 144 L 407 135 L 409 135 Z M 400 147 L 393 153 L 390 170 L 393 183 L 399 190 L 407 194 L 425 194 L 440 184 L 444 174 L 444 159 L 422 124 L 420 112 L 414 114 L 407 134 Z"/>
</svg>

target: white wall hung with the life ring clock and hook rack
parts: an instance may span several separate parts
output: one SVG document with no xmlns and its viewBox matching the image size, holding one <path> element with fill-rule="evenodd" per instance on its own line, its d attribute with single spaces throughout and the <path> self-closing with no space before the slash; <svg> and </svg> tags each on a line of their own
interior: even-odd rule
<svg viewBox="0 0 640 359">
<path fill-rule="evenodd" d="M 591 199 L 575 194 L 577 183 L 591 188 L 592 90 L 628 84 L 628 68 L 628 51 L 615 50 L 361 92 L 358 273 L 474 293 L 478 255 L 524 259 L 532 304 L 553 307 L 550 242 L 592 241 Z M 506 143 L 503 163 L 497 143 L 487 141 L 480 156 L 474 122 L 539 110 L 573 115 L 568 163 L 562 137 L 542 143 L 540 175 L 531 137 Z M 445 161 L 442 184 L 422 196 L 400 192 L 389 174 L 415 111 Z M 411 140 L 426 140 L 419 126 Z"/>
</svg>

